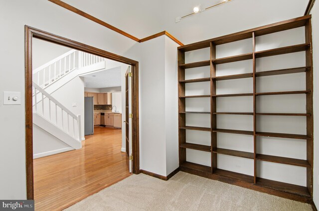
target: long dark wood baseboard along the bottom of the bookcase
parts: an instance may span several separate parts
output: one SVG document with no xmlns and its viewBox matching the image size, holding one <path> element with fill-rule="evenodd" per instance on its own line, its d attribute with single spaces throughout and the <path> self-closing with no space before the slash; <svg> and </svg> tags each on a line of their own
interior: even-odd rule
<svg viewBox="0 0 319 211">
<path fill-rule="evenodd" d="M 304 196 L 299 196 L 299 195 L 295 195 L 295 194 L 291 194 L 291 193 L 277 191 L 277 190 L 274 190 L 274 189 L 257 186 L 257 185 L 254 185 L 254 184 L 251 184 L 251 183 L 248 183 L 248 182 L 243 182 L 243 181 L 239 181 L 239 180 L 236 180 L 236 179 L 230 179 L 230 178 L 223 177 L 223 176 L 216 175 L 216 174 L 211 174 L 211 173 L 207 173 L 207 172 L 203 172 L 203 171 L 189 169 L 189 168 L 186 168 L 186 167 L 183 167 L 183 166 L 180 166 L 179 170 L 183 171 L 183 172 L 186 172 L 186 173 L 189 173 L 189 174 L 194 174 L 194 175 L 205 177 L 205 178 L 208 178 L 208 179 L 217 180 L 219 182 L 240 186 L 242 188 L 248 188 L 248 189 L 251 189 L 251 190 L 254 190 L 254 191 L 259 191 L 259 192 L 262 192 L 262 193 L 266 193 L 266 194 L 282 197 L 282 198 L 285 198 L 285 199 L 290 199 L 290 200 L 294 200 L 294 201 L 298 201 L 298 202 L 302 202 L 302 203 L 307 203 L 307 204 L 312 204 L 313 203 L 313 199 L 309 198 L 309 197 L 304 197 Z"/>
</svg>

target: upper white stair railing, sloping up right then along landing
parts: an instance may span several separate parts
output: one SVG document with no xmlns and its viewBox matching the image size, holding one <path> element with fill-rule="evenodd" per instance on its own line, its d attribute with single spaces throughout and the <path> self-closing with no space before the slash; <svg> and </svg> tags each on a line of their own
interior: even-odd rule
<svg viewBox="0 0 319 211">
<path fill-rule="evenodd" d="M 103 57 L 71 50 L 33 70 L 32 80 L 45 89 L 75 69 L 94 65 L 104 60 Z"/>
</svg>

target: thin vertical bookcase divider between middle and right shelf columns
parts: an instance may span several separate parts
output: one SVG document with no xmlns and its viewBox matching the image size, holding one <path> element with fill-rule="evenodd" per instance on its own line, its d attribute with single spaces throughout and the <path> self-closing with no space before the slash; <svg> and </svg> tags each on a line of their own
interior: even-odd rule
<svg viewBox="0 0 319 211">
<path fill-rule="evenodd" d="M 254 184 L 256 184 L 257 178 L 257 160 L 256 160 L 256 150 L 257 150 L 257 137 L 256 137 L 256 37 L 255 32 L 253 32 L 253 109 L 254 109 Z"/>
</svg>

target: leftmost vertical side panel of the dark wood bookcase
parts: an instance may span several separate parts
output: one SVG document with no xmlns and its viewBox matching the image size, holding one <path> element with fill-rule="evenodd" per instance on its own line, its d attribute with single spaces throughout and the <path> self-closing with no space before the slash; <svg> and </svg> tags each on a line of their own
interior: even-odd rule
<svg viewBox="0 0 319 211">
<path fill-rule="evenodd" d="M 178 50 L 178 71 L 177 78 L 178 81 L 185 80 L 185 69 L 179 67 L 181 64 L 185 64 L 185 52 Z M 185 96 L 185 83 L 178 82 L 178 128 L 184 127 L 186 125 L 186 114 L 185 112 L 185 98 L 180 96 Z M 186 130 L 178 129 L 178 146 L 186 142 Z M 178 147 L 179 155 L 179 165 L 186 161 L 186 148 Z"/>
</svg>

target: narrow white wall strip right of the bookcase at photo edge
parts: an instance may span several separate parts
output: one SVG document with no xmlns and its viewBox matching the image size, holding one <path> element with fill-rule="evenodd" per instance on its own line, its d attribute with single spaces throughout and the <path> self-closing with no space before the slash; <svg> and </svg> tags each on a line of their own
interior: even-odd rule
<svg viewBox="0 0 319 211">
<path fill-rule="evenodd" d="M 314 59 L 314 202 L 319 207 L 319 2 L 312 9 Z"/>
</svg>

